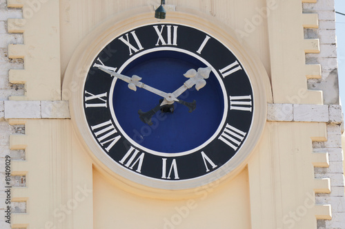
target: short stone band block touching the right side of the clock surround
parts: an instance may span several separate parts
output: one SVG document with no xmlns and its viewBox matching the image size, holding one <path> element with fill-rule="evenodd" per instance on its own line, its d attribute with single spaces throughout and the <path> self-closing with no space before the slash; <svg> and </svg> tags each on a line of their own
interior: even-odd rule
<svg viewBox="0 0 345 229">
<path fill-rule="evenodd" d="M 292 104 L 268 104 L 267 105 L 268 121 L 286 121 L 293 120 Z"/>
</svg>

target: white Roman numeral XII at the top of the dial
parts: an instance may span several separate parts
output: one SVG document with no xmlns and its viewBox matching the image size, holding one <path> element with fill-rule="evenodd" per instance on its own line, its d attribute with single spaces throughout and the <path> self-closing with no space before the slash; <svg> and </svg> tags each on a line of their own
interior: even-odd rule
<svg viewBox="0 0 345 229">
<path fill-rule="evenodd" d="M 177 25 L 174 25 L 173 28 L 171 25 L 161 25 L 159 30 L 158 25 L 153 25 L 155 31 L 158 35 L 158 41 L 156 46 L 161 43 L 161 45 L 177 45 Z"/>
</svg>

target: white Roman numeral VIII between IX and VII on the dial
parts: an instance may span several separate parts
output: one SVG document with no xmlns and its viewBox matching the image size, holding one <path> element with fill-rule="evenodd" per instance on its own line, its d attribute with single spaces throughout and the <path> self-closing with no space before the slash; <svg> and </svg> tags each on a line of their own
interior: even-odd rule
<svg viewBox="0 0 345 229">
<path fill-rule="evenodd" d="M 92 126 L 91 129 L 101 146 L 106 146 L 107 152 L 109 152 L 112 146 L 121 138 L 121 135 L 117 135 L 117 130 L 111 120 Z"/>
</svg>

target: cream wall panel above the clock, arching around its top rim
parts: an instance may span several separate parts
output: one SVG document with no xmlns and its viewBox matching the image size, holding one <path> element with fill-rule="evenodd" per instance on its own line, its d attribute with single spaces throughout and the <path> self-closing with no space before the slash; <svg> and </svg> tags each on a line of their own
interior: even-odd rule
<svg viewBox="0 0 345 229">
<path fill-rule="evenodd" d="M 61 0 L 60 30 L 61 30 L 61 73 L 66 71 L 68 61 L 75 48 L 94 30 L 97 25 L 114 17 L 119 12 L 144 7 L 152 11 L 159 1 L 150 0 Z M 188 8 L 207 14 L 238 31 L 238 38 L 259 56 L 270 73 L 270 57 L 268 49 L 268 28 L 264 8 L 266 0 L 167 0 L 166 4 L 175 5 L 176 10 L 188 11 Z M 270 13 L 270 10 L 268 10 Z M 169 15 L 169 14 L 168 14 Z M 167 16 L 169 17 L 169 16 Z M 155 22 L 155 21 L 152 21 Z"/>
</svg>

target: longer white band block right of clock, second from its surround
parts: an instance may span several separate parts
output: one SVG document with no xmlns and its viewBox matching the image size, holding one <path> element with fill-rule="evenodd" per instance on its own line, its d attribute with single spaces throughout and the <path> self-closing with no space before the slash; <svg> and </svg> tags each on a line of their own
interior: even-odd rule
<svg viewBox="0 0 345 229">
<path fill-rule="evenodd" d="M 328 122 L 328 105 L 293 105 L 297 122 Z"/>
</svg>

